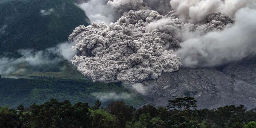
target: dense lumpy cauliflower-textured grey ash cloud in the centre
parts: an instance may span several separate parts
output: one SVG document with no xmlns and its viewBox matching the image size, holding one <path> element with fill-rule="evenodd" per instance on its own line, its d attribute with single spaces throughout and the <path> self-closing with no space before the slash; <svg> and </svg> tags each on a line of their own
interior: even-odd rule
<svg viewBox="0 0 256 128">
<path fill-rule="evenodd" d="M 131 82 L 156 79 L 163 72 L 177 71 L 180 57 L 162 47 L 163 40 L 170 40 L 169 37 L 158 31 L 145 33 L 146 21 L 163 16 L 145 10 L 129 11 L 126 16 L 109 26 L 93 23 L 73 31 L 69 41 L 76 43 L 73 50 L 79 53 L 72 60 L 77 69 L 93 81 Z M 130 21 L 137 23 L 130 24 Z"/>
</svg>

